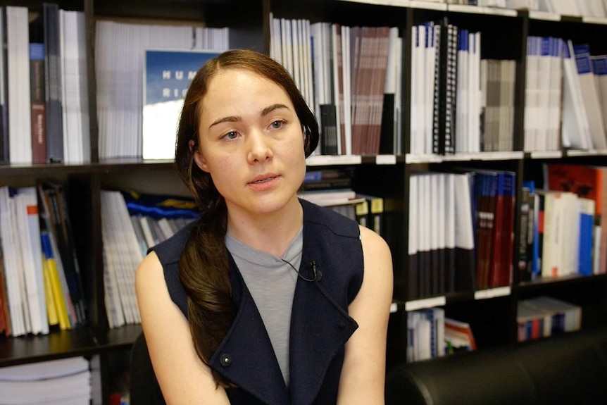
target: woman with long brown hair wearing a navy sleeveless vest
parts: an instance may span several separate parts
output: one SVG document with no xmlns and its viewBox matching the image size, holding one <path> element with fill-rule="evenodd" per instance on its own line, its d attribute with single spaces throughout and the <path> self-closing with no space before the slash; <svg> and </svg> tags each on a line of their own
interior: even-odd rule
<svg viewBox="0 0 607 405">
<path fill-rule="evenodd" d="M 392 259 L 297 198 L 318 123 L 286 70 L 227 51 L 184 99 L 176 162 L 201 219 L 137 270 L 169 404 L 382 404 Z"/>
</svg>

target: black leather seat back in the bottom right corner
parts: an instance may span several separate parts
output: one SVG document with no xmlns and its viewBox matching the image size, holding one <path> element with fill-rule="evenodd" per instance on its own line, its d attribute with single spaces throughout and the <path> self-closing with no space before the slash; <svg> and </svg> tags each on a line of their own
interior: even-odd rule
<svg viewBox="0 0 607 405">
<path fill-rule="evenodd" d="M 607 330 L 395 366 L 386 405 L 405 404 L 607 404 Z"/>
</svg>

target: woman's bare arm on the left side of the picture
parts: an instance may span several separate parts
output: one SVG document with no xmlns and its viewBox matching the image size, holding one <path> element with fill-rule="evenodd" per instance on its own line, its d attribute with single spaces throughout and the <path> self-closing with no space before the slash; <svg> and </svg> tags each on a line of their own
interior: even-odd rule
<svg viewBox="0 0 607 405">
<path fill-rule="evenodd" d="M 154 252 L 137 268 L 135 289 L 150 359 L 166 403 L 230 404 L 196 354 L 187 320 L 170 299 Z"/>
</svg>

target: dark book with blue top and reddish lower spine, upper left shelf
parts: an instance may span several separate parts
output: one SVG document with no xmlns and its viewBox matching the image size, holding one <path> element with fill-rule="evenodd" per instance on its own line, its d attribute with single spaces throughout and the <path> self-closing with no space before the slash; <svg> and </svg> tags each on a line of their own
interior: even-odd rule
<svg viewBox="0 0 607 405">
<path fill-rule="evenodd" d="M 32 162 L 46 163 L 46 91 L 44 44 L 30 44 L 30 102 L 32 104 Z"/>
</svg>

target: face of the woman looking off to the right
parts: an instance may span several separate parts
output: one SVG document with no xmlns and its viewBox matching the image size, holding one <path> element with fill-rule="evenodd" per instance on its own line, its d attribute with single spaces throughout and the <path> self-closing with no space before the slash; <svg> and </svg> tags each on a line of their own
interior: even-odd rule
<svg viewBox="0 0 607 405">
<path fill-rule="evenodd" d="M 231 213 L 272 213 L 297 201 L 306 173 L 303 130 L 282 87 L 250 70 L 221 70 L 199 113 L 194 160 Z"/>
</svg>

